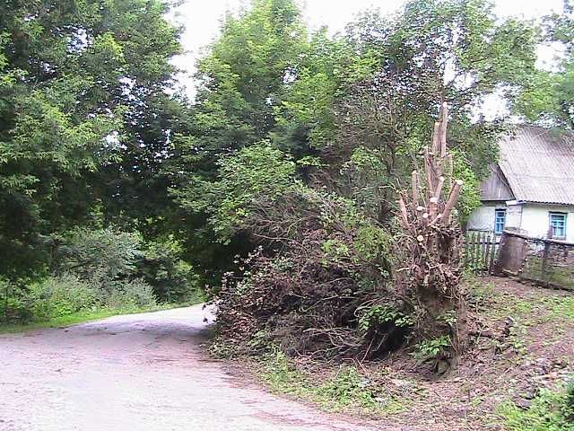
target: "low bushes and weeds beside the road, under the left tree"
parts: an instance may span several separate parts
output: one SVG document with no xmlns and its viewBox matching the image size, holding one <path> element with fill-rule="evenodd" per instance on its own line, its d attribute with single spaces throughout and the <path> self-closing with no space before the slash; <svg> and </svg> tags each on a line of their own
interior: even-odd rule
<svg viewBox="0 0 574 431">
<path fill-rule="evenodd" d="M 0 312 L 4 323 L 49 321 L 194 302 L 200 286 L 181 253 L 170 239 L 145 244 L 112 228 L 74 229 L 54 245 L 48 276 L 23 286 L 3 281 Z"/>
</svg>

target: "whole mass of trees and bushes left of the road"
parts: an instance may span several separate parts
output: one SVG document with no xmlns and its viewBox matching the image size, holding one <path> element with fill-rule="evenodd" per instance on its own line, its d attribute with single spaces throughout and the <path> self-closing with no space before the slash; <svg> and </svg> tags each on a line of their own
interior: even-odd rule
<svg viewBox="0 0 574 431">
<path fill-rule="evenodd" d="M 166 92 L 181 50 L 168 10 L 0 4 L 0 319 L 194 295 L 161 172 L 187 112 Z"/>
</svg>

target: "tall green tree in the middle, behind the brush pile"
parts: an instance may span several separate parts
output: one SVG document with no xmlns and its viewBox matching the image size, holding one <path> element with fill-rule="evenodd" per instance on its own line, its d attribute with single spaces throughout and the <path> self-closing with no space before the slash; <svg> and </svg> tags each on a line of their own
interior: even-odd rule
<svg viewBox="0 0 574 431">
<path fill-rule="evenodd" d="M 222 33 L 197 64 L 196 104 L 189 133 L 174 136 L 173 197 L 183 208 L 189 258 L 219 283 L 233 256 L 248 251 L 245 238 L 222 240 L 210 227 L 205 197 L 219 178 L 222 157 L 270 138 L 275 109 L 296 76 L 307 31 L 293 0 L 254 0 L 228 14 Z M 196 202 L 205 205 L 197 205 Z M 220 243 L 226 242 L 225 244 Z"/>
</svg>

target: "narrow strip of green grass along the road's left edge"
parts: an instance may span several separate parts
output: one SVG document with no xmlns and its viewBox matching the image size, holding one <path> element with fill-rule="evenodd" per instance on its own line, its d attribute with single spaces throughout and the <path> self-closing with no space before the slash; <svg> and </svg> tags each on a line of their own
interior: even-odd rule
<svg viewBox="0 0 574 431">
<path fill-rule="evenodd" d="M 186 307 L 189 305 L 194 305 L 200 303 L 197 302 L 190 303 L 171 303 L 165 305 L 156 305 L 149 308 L 121 308 L 121 309 L 97 309 L 87 312 L 78 312 L 74 314 L 69 314 L 66 316 L 54 317 L 48 321 L 31 321 L 29 323 L 9 323 L 0 324 L 0 334 L 11 334 L 16 332 L 24 332 L 27 330 L 41 330 L 45 328 L 59 328 L 65 326 L 71 326 L 78 323 L 83 323 L 86 321 L 98 321 L 100 319 L 105 319 L 111 316 L 117 316 L 121 314 L 137 314 L 140 312 L 158 312 L 161 310 L 170 310 L 173 308 Z"/>
</svg>

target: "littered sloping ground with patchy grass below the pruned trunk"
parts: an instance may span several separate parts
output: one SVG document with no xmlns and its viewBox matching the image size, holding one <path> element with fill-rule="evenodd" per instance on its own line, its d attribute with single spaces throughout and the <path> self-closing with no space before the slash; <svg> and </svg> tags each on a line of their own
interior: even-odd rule
<svg viewBox="0 0 574 431">
<path fill-rule="evenodd" d="M 465 279 L 465 285 L 475 315 L 471 346 L 446 379 L 418 357 L 432 343 L 386 361 L 343 364 L 286 356 L 267 343 L 265 354 L 243 366 L 255 369 L 273 391 L 329 411 L 377 418 L 378 427 L 570 430 L 574 321 L 552 317 L 557 304 L 570 305 L 570 296 L 496 277 Z M 259 348 L 264 335 L 255 338 Z"/>
</svg>

